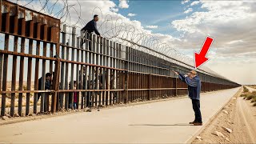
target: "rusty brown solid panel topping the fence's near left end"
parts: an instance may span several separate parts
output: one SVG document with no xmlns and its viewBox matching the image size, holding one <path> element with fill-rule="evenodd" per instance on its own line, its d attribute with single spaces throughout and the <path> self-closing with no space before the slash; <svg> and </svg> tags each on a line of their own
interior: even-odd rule
<svg viewBox="0 0 256 144">
<path fill-rule="evenodd" d="M 59 43 L 60 19 L 6 0 L 1 1 L 1 8 L 2 17 L 0 19 L 2 22 L 6 22 L 0 26 L 1 32 Z"/>
</svg>

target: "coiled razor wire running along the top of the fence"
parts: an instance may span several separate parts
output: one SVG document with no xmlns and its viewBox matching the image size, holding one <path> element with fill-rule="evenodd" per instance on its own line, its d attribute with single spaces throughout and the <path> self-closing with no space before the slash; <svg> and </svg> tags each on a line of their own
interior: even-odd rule
<svg viewBox="0 0 256 144">
<path fill-rule="evenodd" d="M 70 31 L 70 33 L 72 27 L 81 30 L 83 26 L 86 26 L 86 22 L 82 18 L 82 5 L 78 0 L 72 2 L 68 0 L 17 0 L 16 3 L 60 19 L 62 24 L 66 24 L 66 26 L 69 27 L 68 31 Z M 42 8 L 35 9 L 35 3 Z M 156 38 L 154 34 L 149 33 L 149 31 L 138 29 L 132 24 L 124 22 L 122 18 L 114 17 L 112 14 L 104 15 L 100 7 L 95 7 L 91 11 L 91 18 L 97 13 L 96 11 L 101 19 L 101 21 L 98 22 L 98 30 L 104 38 L 118 42 L 123 46 L 130 46 L 136 50 L 142 50 L 148 54 L 176 63 L 188 69 L 194 67 L 193 58 L 182 54 L 179 50 L 174 48 L 174 46 L 162 42 L 159 38 Z M 72 17 L 71 13 L 75 16 Z M 221 77 L 206 66 L 201 66 L 199 70 Z"/>
</svg>

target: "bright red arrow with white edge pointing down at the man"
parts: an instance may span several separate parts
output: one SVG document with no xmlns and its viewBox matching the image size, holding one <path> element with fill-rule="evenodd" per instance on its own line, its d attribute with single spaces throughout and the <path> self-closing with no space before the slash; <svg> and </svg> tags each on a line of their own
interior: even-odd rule
<svg viewBox="0 0 256 144">
<path fill-rule="evenodd" d="M 199 66 L 202 66 L 203 63 L 210 60 L 206 58 L 208 50 L 210 50 L 210 45 L 214 42 L 214 38 L 206 37 L 206 41 L 203 43 L 200 53 L 194 53 L 194 67 L 197 69 Z"/>
</svg>

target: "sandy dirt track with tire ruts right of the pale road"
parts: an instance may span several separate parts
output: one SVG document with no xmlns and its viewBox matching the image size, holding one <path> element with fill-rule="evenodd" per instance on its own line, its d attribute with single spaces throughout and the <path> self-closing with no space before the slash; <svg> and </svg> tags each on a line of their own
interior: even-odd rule
<svg viewBox="0 0 256 144">
<path fill-rule="evenodd" d="M 192 143 L 256 143 L 256 107 L 239 95 L 230 100 Z M 215 131 L 224 137 L 215 135 Z"/>
</svg>

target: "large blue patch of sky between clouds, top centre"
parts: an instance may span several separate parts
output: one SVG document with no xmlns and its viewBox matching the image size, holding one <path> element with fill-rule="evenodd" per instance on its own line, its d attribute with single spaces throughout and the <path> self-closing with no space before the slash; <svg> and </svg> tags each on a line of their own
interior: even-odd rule
<svg viewBox="0 0 256 144">
<path fill-rule="evenodd" d="M 119 1 L 113 1 L 117 6 Z M 190 4 L 191 2 L 187 2 Z M 200 4 L 193 6 L 194 10 L 202 11 Z M 152 30 L 153 33 L 160 34 L 171 34 L 174 37 L 179 36 L 179 32 L 171 26 L 171 22 L 177 19 L 186 18 L 187 15 L 184 11 L 188 9 L 187 5 L 182 5 L 182 1 L 168 1 L 168 0 L 159 0 L 159 1 L 129 1 L 128 9 L 119 9 L 118 13 L 124 16 L 128 14 L 136 14 L 133 17 L 129 17 L 130 20 L 138 20 L 142 22 L 142 26 L 158 26 L 157 29 L 148 29 Z"/>
</svg>

